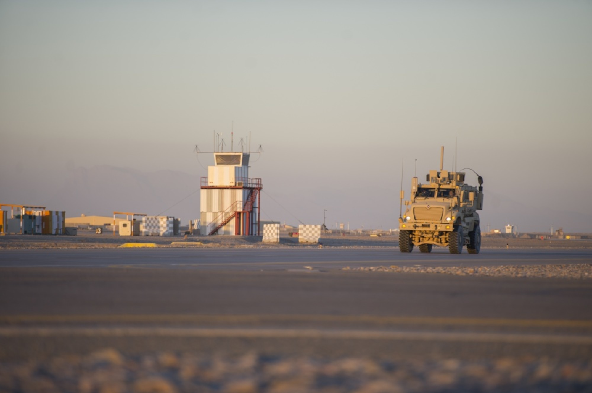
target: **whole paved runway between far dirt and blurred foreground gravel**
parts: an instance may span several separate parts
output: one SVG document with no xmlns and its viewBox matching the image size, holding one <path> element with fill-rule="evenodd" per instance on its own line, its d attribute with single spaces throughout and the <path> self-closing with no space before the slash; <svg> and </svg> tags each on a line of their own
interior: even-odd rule
<svg viewBox="0 0 592 393">
<path fill-rule="evenodd" d="M 592 356 L 592 280 L 343 271 L 583 264 L 588 249 L 0 252 L 0 359 L 200 350 L 323 356 Z"/>
</svg>

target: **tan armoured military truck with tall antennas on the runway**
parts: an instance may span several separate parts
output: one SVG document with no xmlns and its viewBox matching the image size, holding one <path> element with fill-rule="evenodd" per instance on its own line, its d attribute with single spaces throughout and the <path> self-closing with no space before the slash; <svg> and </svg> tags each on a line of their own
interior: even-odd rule
<svg viewBox="0 0 592 393">
<path fill-rule="evenodd" d="M 432 247 L 448 247 L 451 254 L 479 254 L 481 229 L 477 210 L 483 209 L 483 178 L 477 175 L 479 188 L 465 184 L 464 172 L 442 170 L 444 147 L 440 152 L 440 170 L 430 171 L 426 184 L 411 180 L 411 196 L 399 217 L 399 249 L 431 252 Z M 401 190 L 401 202 L 404 191 Z"/>
</svg>

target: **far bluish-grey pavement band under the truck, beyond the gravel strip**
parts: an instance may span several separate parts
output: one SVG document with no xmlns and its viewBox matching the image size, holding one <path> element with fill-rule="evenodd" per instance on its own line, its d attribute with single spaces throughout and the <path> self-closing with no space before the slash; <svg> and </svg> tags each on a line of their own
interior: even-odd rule
<svg viewBox="0 0 592 393">
<path fill-rule="evenodd" d="M 312 266 L 426 265 L 496 266 L 581 264 L 592 249 L 484 249 L 481 254 L 402 254 L 398 248 L 162 248 L 162 249 L 19 249 L 0 250 L 0 267 L 158 267 L 208 270 L 284 270 Z"/>
</svg>

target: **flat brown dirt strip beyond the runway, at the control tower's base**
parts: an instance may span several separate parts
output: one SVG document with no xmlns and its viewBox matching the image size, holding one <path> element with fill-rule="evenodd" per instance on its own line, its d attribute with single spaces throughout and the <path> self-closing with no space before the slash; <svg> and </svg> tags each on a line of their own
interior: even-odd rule
<svg viewBox="0 0 592 393">
<path fill-rule="evenodd" d="M 397 235 L 323 235 L 323 247 L 398 247 Z M 282 233 L 279 243 L 263 243 L 261 236 L 119 236 L 112 233 L 98 235 L 91 230 L 79 230 L 76 236 L 4 235 L 0 249 L 51 248 L 117 248 L 124 243 L 155 243 L 157 247 L 317 247 L 317 243 L 298 243 Z M 482 248 L 592 248 L 592 240 L 517 239 L 483 236 Z"/>
</svg>

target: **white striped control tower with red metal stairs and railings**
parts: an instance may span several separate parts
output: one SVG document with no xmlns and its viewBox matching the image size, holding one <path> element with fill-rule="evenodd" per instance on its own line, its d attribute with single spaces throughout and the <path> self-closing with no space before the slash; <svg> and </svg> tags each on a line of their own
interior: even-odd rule
<svg viewBox="0 0 592 393">
<path fill-rule="evenodd" d="M 201 178 L 200 218 L 207 235 L 260 233 L 260 178 L 249 178 L 249 153 L 214 152 Z"/>
</svg>

